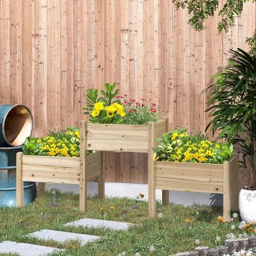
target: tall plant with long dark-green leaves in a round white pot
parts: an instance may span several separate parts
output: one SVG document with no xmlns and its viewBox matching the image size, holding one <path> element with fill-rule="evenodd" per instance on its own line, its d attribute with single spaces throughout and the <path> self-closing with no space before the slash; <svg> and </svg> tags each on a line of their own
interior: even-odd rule
<svg viewBox="0 0 256 256">
<path fill-rule="evenodd" d="M 246 168 L 248 186 L 241 189 L 239 211 L 244 221 L 256 223 L 256 56 L 242 49 L 230 51 L 228 67 L 217 74 L 209 87 L 212 117 L 207 125 L 218 138 L 234 143 Z"/>
</svg>

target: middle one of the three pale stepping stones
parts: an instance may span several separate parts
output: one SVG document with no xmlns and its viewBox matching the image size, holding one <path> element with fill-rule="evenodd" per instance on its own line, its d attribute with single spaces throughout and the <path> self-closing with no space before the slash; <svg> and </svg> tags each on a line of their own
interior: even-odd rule
<svg viewBox="0 0 256 256">
<path fill-rule="evenodd" d="M 99 239 L 99 236 L 90 236 L 90 235 L 49 230 L 49 229 L 43 229 L 40 231 L 36 231 L 31 234 L 28 234 L 28 236 L 36 237 L 38 239 L 43 239 L 43 240 L 52 239 L 52 240 L 54 240 L 56 242 L 60 242 L 60 243 L 64 243 L 68 240 L 79 240 L 81 242 L 82 246 L 88 242 L 92 242 L 92 241 L 95 241 L 96 239 Z"/>
</svg>

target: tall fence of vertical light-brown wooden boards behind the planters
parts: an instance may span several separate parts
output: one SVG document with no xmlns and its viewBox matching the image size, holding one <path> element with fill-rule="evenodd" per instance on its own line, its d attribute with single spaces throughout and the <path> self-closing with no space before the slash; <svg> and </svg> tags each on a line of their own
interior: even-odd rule
<svg viewBox="0 0 256 256">
<path fill-rule="evenodd" d="M 222 1 L 222 0 L 220 0 Z M 177 125 L 204 131 L 205 88 L 256 26 L 248 3 L 227 34 L 196 32 L 171 0 L 0 0 L 0 104 L 26 104 L 35 136 L 77 125 L 88 87 L 118 83 L 156 101 Z M 107 180 L 147 182 L 143 154 L 107 155 Z"/>
</svg>

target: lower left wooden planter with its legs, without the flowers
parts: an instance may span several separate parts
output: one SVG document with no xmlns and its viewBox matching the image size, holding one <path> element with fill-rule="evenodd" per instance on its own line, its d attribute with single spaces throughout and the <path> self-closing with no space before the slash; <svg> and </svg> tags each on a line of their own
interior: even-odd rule
<svg viewBox="0 0 256 256">
<path fill-rule="evenodd" d="M 87 209 L 87 182 L 97 179 L 99 198 L 104 197 L 102 152 L 87 156 L 84 140 L 84 123 L 81 129 L 80 157 L 26 156 L 17 153 L 16 204 L 24 205 L 23 182 L 39 182 L 39 195 L 44 195 L 45 183 L 79 184 L 79 209 Z"/>
</svg>

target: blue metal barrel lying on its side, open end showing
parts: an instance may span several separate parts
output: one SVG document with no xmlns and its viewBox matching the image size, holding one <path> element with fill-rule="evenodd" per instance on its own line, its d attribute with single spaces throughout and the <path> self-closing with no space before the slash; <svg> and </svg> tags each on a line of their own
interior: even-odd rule
<svg viewBox="0 0 256 256">
<path fill-rule="evenodd" d="M 0 106 L 0 147 L 17 147 L 31 135 L 33 117 L 24 105 Z"/>
</svg>

